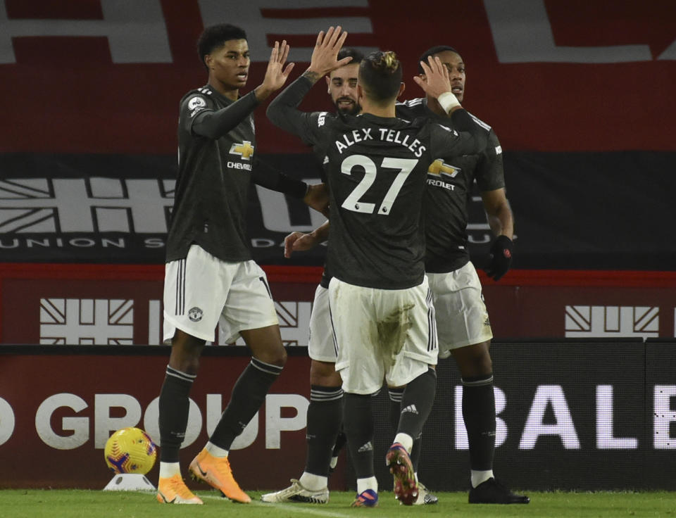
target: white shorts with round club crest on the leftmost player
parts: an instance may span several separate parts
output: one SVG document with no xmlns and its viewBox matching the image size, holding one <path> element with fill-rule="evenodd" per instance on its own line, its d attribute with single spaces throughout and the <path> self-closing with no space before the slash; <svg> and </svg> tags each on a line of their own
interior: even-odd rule
<svg viewBox="0 0 676 518">
<path fill-rule="evenodd" d="M 265 272 L 252 260 L 227 263 L 192 245 L 185 259 L 165 265 L 164 339 L 175 328 L 214 341 L 220 324 L 227 343 L 239 331 L 279 324 Z"/>
</svg>

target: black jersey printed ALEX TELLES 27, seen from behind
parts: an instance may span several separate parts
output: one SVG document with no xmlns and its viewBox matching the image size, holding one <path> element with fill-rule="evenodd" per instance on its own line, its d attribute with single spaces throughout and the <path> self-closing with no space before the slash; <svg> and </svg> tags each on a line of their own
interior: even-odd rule
<svg viewBox="0 0 676 518">
<path fill-rule="evenodd" d="M 330 272 L 357 286 L 417 286 L 425 275 L 422 208 L 432 157 L 477 153 L 485 138 L 430 120 L 289 110 L 299 101 L 294 93 L 307 89 L 303 77 L 296 80 L 270 104 L 268 116 L 324 157 Z"/>
</svg>

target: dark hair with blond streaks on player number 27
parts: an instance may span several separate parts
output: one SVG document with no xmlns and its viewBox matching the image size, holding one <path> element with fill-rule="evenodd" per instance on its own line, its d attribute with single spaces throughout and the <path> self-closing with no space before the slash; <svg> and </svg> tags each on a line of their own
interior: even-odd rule
<svg viewBox="0 0 676 518">
<path fill-rule="evenodd" d="M 399 94 L 402 74 L 394 52 L 375 51 L 359 65 L 359 84 L 374 101 L 389 101 Z"/>
</svg>

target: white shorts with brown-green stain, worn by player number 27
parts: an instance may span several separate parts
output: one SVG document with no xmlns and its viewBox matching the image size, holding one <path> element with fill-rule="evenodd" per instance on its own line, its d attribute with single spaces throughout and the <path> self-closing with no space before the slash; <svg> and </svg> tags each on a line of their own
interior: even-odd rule
<svg viewBox="0 0 676 518">
<path fill-rule="evenodd" d="M 343 390 L 372 394 L 383 379 L 406 385 L 437 365 L 437 331 L 427 279 L 408 289 L 329 284 L 331 322 Z"/>
</svg>

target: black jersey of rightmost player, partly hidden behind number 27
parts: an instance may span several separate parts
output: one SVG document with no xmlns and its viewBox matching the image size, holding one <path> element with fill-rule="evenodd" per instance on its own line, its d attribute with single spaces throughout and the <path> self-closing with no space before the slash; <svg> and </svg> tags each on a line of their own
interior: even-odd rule
<svg viewBox="0 0 676 518">
<path fill-rule="evenodd" d="M 432 112 L 426 99 L 397 103 L 396 114 L 406 119 L 424 117 L 451 124 L 449 118 L 441 118 Z M 427 272 L 451 272 L 470 260 L 467 250 L 468 198 L 474 180 L 480 191 L 505 187 L 498 137 L 485 122 L 474 115 L 472 118 L 487 134 L 488 143 L 481 153 L 454 156 L 453 160 L 434 157 L 427 171 L 424 198 Z"/>
</svg>

